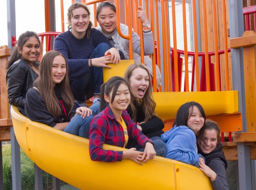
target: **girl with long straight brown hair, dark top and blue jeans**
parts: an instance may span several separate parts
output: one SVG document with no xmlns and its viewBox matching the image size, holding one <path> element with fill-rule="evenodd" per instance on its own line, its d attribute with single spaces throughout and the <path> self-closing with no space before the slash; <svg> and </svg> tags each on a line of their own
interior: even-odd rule
<svg viewBox="0 0 256 190">
<path fill-rule="evenodd" d="M 74 106 L 67 61 L 57 51 L 44 55 L 35 87 L 27 92 L 25 111 L 32 121 L 82 137 L 88 137 L 90 121 L 95 114 L 87 107 L 76 109 Z M 86 116 L 89 118 L 84 119 Z"/>
</svg>

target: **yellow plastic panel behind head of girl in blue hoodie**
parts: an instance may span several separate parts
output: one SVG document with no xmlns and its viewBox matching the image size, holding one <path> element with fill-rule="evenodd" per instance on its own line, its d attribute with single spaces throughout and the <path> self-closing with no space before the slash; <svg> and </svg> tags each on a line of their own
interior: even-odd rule
<svg viewBox="0 0 256 190">
<path fill-rule="evenodd" d="M 238 91 L 214 92 L 153 92 L 157 104 L 155 112 L 161 119 L 176 118 L 179 107 L 195 101 L 204 108 L 205 115 L 238 112 Z"/>
</svg>

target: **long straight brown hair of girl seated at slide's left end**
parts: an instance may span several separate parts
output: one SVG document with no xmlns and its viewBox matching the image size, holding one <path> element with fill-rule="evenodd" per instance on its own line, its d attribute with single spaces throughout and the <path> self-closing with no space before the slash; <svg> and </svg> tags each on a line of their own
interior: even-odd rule
<svg viewBox="0 0 256 190">
<path fill-rule="evenodd" d="M 38 88 L 50 114 L 53 115 L 55 118 L 59 118 L 61 116 L 61 105 L 58 101 L 58 98 L 55 95 L 55 83 L 52 81 L 51 76 L 52 64 L 56 56 L 62 56 L 66 63 L 66 69 L 68 68 L 67 61 L 63 54 L 57 51 L 47 52 L 41 61 L 41 66 L 39 69 L 40 75 L 35 81 L 35 86 Z M 64 79 L 58 85 L 61 89 L 61 98 L 65 102 L 65 104 L 67 104 L 68 107 L 68 117 L 74 106 L 74 98 L 70 89 L 68 79 L 68 69 L 66 71 Z"/>
</svg>

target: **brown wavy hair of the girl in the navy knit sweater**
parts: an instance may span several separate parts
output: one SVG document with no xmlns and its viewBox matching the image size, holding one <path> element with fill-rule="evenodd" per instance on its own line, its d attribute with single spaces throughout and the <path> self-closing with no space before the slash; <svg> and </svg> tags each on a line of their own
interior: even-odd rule
<svg viewBox="0 0 256 190">
<path fill-rule="evenodd" d="M 71 20 L 71 17 L 73 17 L 73 13 L 72 11 L 75 10 L 75 9 L 78 9 L 78 8 L 83 8 L 85 9 L 87 12 L 88 12 L 88 15 L 89 15 L 89 19 L 90 19 L 90 11 L 88 9 L 88 7 L 86 5 L 84 5 L 83 3 L 79 3 L 79 2 L 76 2 L 74 4 L 72 4 L 68 9 L 67 9 L 67 17 L 69 20 Z M 68 29 L 71 29 L 71 24 L 70 24 L 70 21 L 68 23 L 68 26 L 67 26 Z M 89 24 L 88 24 L 88 32 L 87 32 L 87 39 L 89 39 L 90 37 L 90 32 L 91 30 L 93 29 L 93 23 L 89 20 Z"/>
</svg>

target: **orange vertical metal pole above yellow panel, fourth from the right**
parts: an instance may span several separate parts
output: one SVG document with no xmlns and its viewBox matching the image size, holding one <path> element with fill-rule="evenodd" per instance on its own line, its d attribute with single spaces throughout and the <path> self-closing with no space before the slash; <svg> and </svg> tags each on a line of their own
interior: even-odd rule
<svg viewBox="0 0 256 190">
<path fill-rule="evenodd" d="M 189 59 L 186 34 L 186 2 L 182 0 L 186 92 L 189 92 Z"/>
</svg>

